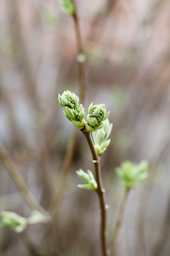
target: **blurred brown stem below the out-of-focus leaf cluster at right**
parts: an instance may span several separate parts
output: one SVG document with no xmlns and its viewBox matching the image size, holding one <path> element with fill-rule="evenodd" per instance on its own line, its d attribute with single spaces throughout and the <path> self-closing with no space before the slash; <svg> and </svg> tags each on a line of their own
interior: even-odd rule
<svg viewBox="0 0 170 256">
<path fill-rule="evenodd" d="M 116 243 L 117 243 L 118 235 L 122 226 L 122 221 L 125 213 L 125 206 L 126 206 L 127 198 L 129 195 L 129 191 L 130 189 L 126 189 L 122 198 L 118 219 L 114 229 L 114 236 L 113 236 L 113 243 L 112 243 L 112 256 L 116 256 Z"/>
</svg>

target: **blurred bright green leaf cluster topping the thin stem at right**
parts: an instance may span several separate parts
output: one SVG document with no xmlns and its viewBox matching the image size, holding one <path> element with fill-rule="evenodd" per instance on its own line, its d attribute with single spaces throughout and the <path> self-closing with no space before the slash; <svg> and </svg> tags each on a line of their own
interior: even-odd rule
<svg viewBox="0 0 170 256">
<path fill-rule="evenodd" d="M 131 189 L 148 177 L 148 162 L 143 160 L 138 165 L 134 165 L 131 161 L 125 161 L 116 172 L 124 187 Z"/>
</svg>

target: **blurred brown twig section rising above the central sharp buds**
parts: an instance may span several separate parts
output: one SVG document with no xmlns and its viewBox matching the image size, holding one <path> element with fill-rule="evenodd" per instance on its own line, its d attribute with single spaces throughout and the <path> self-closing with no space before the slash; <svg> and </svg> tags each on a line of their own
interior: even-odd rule
<svg viewBox="0 0 170 256">
<path fill-rule="evenodd" d="M 74 20 L 74 27 L 75 27 L 75 34 L 76 34 L 77 52 L 78 52 L 78 55 L 79 54 L 84 55 L 75 2 L 74 2 L 74 6 L 75 6 L 75 12 L 72 16 L 73 16 L 73 20 Z M 78 62 L 79 100 L 80 100 L 80 103 L 82 103 L 82 104 L 84 102 L 85 89 L 86 89 L 85 65 L 84 64 L 85 64 L 84 62 Z"/>
</svg>

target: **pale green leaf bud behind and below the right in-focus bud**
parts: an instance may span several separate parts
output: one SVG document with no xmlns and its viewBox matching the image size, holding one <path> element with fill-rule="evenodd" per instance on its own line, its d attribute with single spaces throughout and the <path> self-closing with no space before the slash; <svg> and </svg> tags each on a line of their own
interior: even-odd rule
<svg viewBox="0 0 170 256">
<path fill-rule="evenodd" d="M 110 135 L 112 124 L 110 124 L 108 119 L 106 119 L 103 124 L 101 129 L 92 132 L 93 142 L 98 155 L 103 154 L 110 143 L 110 139 L 107 138 Z"/>
</svg>

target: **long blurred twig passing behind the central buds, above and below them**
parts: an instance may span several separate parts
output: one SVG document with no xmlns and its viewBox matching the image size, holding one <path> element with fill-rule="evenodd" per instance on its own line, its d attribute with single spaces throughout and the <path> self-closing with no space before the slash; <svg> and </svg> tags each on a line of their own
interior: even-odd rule
<svg viewBox="0 0 170 256">
<path fill-rule="evenodd" d="M 73 20 L 74 20 L 74 25 L 75 25 L 75 34 L 76 34 L 76 43 L 77 43 L 77 52 L 79 54 L 84 54 L 83 52 L 83 46 L 82 46 L 82 40 L 81 40 L 81 34 L 80 34 L 80 29 L 79 29 L 79 22 L 78 22 L 78 15 L 76 11 L 76 5 L 75 6 L 75 12 L 72 15 Z M 84 68 L 84 62 L 78 62 L 78 81 L 79 81 L 79 101 L 81 104 L 84 102 L 84 97 L 85 97 L 85 90 L 86 90 L 86 80 L 85 80 L 85 68 Z M 49 207 L 49 211 L 52 215 L 56 213 L 58 210 L 58 206 L 64 196 L 67 180 L 69 177 L 69 171 L 72 165 L 73 161 L 73 155 L 74 155 L 74 150 L 76 146 L 76 141 L 77 141 L 77 134 L 78 134 L 78 129 L 75 128 L 70 135 L 70 142 L 68 145 L 68 150 L 65 155 L 64 159 L 64 166 L 63 166 L 63 171 L 61 174 L 61 181 L 59 185 L 59 189 L 56 191 L 56 194 L 54 195 L 54 198 L 52 200 L 52 203 Z"/>
</svg>

